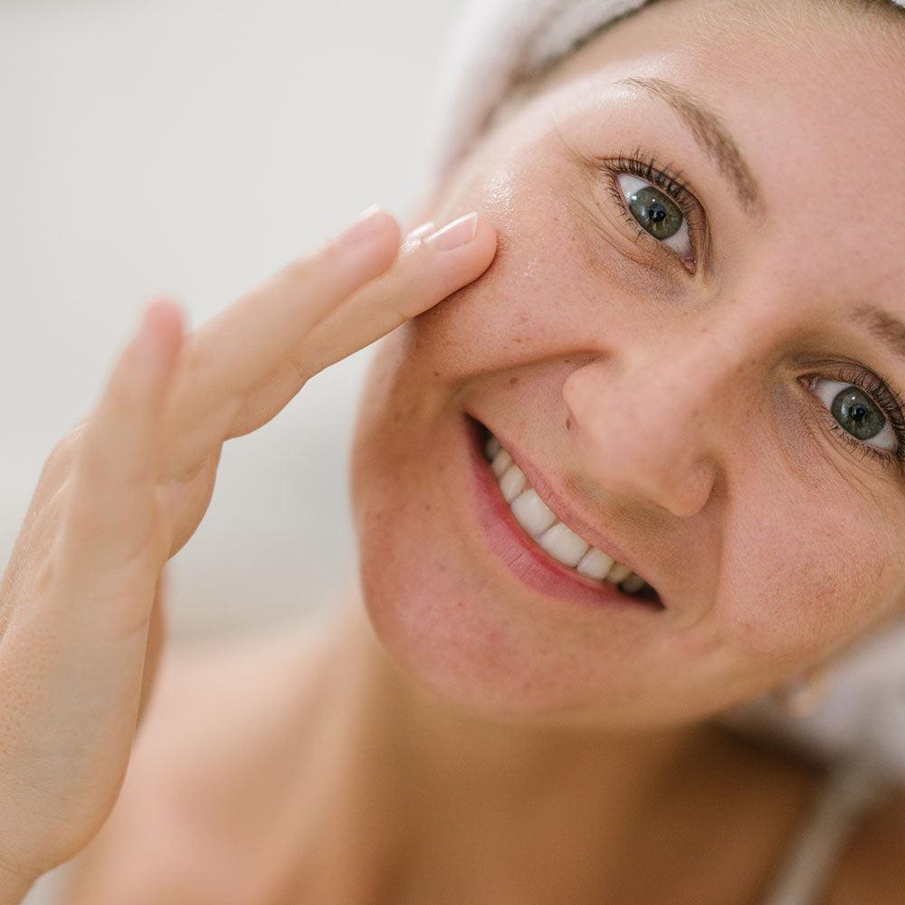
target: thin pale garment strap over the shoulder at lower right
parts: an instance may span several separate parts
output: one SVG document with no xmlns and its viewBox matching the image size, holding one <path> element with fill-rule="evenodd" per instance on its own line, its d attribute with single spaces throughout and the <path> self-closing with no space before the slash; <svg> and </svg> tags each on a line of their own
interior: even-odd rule
<svg viewBox="0 0 905 905">
<path fill-rule="evenodd" d="M 854 825 L 891 785 L 887 776 L 861 761 L 831 769 L 764 905 L 817 905 Z"/>
</svg>

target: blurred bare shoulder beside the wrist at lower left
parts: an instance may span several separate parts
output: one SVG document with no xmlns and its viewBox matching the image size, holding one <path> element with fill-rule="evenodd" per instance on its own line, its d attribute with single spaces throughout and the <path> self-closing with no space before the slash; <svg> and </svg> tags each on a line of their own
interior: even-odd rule
<svg viewBox="0 0 905 905">
<path fill-rule="evenodd" d="M 285 794 L 310 634 L 165 650 L 117 803 L 59 905 L 254 900 L 250 862 Z"/>
</svg>

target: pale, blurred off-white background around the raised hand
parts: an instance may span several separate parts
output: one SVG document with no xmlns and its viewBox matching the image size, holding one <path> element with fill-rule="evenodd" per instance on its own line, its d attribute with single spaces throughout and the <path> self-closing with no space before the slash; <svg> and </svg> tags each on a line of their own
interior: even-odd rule
<svg viewBox="0 0 905 905">
<path fill-rule="evenodd" d="M 149 297 L 189 324 L 379 203 L 408 224 L 458 0 L 0 0 L 0 549 Z M 412 214 L 414 215 L 414 214 Z M 173 643 L 295 619 L 354 564 L 370 350 L 224 449 Z"/>
</svg>

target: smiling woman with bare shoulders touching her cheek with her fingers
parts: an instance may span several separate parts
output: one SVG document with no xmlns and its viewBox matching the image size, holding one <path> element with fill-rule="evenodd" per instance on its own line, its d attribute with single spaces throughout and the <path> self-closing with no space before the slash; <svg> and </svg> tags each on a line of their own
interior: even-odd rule
<svg viewBox="0 0 905 905">
<path fill-rule="evenodd" d="M 799 883 L 827 770 L 719 717 L 905 607 L 905 14 L 587 31 L 401 249 L 372 211 L 194 334 L 148 308 L 5 574 L 0 900 L 81 852 L 68 903 L 901 901 L 898 790 Z M 224 439 L 402 321 L 360 596 L 164 659 L 132 748 Z"/>
</svg>

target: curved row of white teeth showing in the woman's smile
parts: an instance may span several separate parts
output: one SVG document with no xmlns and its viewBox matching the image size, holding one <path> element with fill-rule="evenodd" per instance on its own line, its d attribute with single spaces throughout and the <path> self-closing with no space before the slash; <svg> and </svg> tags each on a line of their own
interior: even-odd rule
<svg viewBox="0 0 905 905">
<path fill-rule="evenodd" d="M 626 594 L 635 594 L 647 585 L 629 567 L 614 562 L 602 550 L 591 547 L 584 538 L 559 521 L 529 486 L 524 472 L 512 462 L 509 452 L 502 448 L 496 437 L 488 439 L 484 452 L 515 520 L 557 562 L 575 568 L 581 575 L 595 581 L 605 580 L 618 585 Z"/>
</svg>

